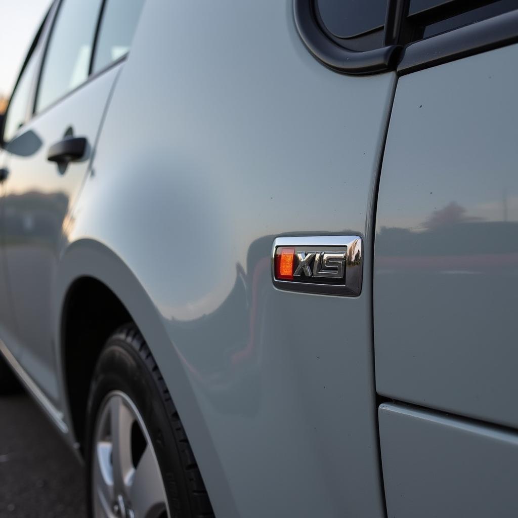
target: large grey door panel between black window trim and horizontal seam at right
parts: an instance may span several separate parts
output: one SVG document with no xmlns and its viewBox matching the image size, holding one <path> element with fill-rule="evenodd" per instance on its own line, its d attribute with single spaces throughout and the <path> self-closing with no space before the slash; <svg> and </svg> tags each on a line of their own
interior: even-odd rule
<svg viewBox="0 0 518 518">
<path fill-rule="evenodd" d="M 378 198 L 383 395 L 518 426 L 518 57 L 399 79 Z"/>
</svg>

